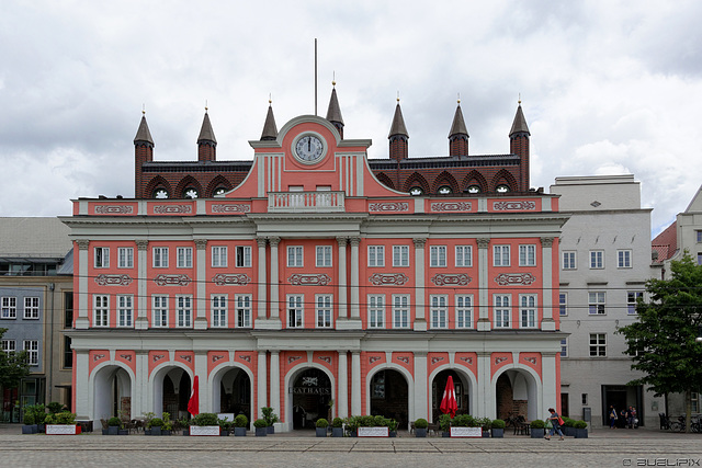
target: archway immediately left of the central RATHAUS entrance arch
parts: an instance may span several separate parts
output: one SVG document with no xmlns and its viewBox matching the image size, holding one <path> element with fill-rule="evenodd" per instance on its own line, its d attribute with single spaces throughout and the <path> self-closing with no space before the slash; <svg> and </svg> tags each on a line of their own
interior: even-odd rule
<svg viewBox="0 0 702 468">
<path fill-rule="evenodd" d="M 253 387 L 251 376 L 244 368 L 224 367 L 214 375 L 211 388 L 213 412 L 245 414 L 249 421 L 253 421 Z"/>
</svg>

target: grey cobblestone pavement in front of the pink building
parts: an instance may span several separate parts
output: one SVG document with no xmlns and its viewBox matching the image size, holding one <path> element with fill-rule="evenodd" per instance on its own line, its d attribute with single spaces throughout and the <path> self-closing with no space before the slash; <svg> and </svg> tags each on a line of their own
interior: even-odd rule
<svg viewBox="0 0 702 468">
<path fill-rule="evenodd" d="M 0 425 L 0 466 L 11 467 L 444 467 L 700 466 L 702 434 L 598 430 L 589 438 L 316 438 L 312 432 L 267 437 L 21 435 Z"/>
</svg>

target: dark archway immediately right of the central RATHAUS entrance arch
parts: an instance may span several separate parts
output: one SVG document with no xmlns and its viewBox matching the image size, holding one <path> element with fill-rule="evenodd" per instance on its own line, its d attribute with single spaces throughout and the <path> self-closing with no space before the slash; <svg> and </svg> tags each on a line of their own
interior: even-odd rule
<svg viewBox="0 0 702 468">
<path fill-rule="evenodd" d="M 405 376 L 384 368 L 370 380 L 371 410 L 369 414 L 397 420 L 399 427 L 409 423 L 409 385 Z"/>
</svg>

